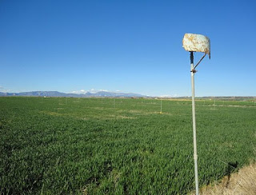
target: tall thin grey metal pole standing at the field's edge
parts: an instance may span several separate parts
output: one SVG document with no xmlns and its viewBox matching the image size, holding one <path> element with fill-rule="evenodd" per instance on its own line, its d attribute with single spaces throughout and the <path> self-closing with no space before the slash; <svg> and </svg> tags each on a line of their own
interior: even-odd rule
<svg viewBox="0 0 256 195">
<path fill-rule="evenodd" d="M 195 125 L 195 106 L 194 106 L 194 55 L 193 51 L 190 51 L 190 64 L 191 64 L 191 86 L 192 86 L 192 119 L 193 119 L 193 137 L 194 137 L 194 181 L 195 192 L 199 194 L 198 189 L 198 152 L 197 152 L 197 132 Z"/>
</svg>

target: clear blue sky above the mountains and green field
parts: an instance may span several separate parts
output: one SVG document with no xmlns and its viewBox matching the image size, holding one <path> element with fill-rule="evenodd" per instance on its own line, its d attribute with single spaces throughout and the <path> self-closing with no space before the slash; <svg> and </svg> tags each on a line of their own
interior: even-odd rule
<svg viewBox="0 0 256 195">
<path fill-rule="evenodd" d="M 254 0 L 2 0 L 0 91 L 190 96 L 185 33 L 211 41 L 196 96 L 256 96 Z"/>
</svg>

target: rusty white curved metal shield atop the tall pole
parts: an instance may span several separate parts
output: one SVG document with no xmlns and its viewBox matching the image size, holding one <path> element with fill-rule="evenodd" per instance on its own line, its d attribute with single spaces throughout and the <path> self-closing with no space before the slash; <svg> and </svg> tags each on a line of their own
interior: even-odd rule
<svg viewBox="0 0 256 195">
<path fill-rule="evenodd" d="M 202 34 L 185 34 L 182 44 L 187 51 L 198 51 L 209 55 L 210 39 Z"/>
</svg>

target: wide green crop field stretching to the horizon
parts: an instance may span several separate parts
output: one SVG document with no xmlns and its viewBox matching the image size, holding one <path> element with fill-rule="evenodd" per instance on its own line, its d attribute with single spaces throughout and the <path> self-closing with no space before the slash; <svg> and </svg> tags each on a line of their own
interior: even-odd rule
<svg viewBox="0 0 256 195">
<path fill-rule="evenodd" d="M 0 194 L 186 194 L 191 101 L 0 98 Z M 199 184 L 255 161 L 254 101 L 196 101 Z"/>
</svg>

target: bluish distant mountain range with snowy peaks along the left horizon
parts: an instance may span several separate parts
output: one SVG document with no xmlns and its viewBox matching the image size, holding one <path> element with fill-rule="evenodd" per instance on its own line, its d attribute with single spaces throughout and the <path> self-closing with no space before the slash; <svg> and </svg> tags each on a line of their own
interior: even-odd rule
<svg viewBox="0 0 256 195">
<path fill-rule="evenodd" d="M 142 94 L 133 94 L 133 93 L 115 93 L 108 91 L 98 91 L 97 93 L 86 92 L 85 94 L 66 94 L 58 91 L 30 91 L 30 92 L 21 92 L 21 93 L 3 93 L 0 92 L 0 96 L 29 96 L 29 97 L 69 97 L 69 98 L 92 98 L 92 97 L 102 97 L 102 98 L 145 98 L 147 96 Z"/>
</svg>

